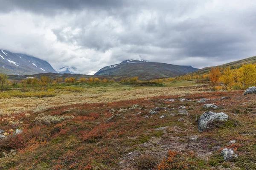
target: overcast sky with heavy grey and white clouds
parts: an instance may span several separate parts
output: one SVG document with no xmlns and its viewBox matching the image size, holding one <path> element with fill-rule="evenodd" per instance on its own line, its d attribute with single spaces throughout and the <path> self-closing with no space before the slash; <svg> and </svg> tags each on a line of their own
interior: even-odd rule
<svg viewBox="0 0 256 170">
<path fill-rule="evenodd" d="M 126 59 L 195 68 L 256 55 L 255 0 L 0 0 L 0 49 L 82 74 Z"/>
</svg>

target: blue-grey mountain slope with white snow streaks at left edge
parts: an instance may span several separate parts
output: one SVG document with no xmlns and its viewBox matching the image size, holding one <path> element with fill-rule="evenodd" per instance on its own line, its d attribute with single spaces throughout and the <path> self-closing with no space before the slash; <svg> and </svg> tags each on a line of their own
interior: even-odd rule
<svg viewBox="0 0 256 170">
<path fill-rule="evenodd" d="M 1 49 L 0 72 L 8 75 L 57 73 L 47 61 L 26 54 L 12 53 L 11 51 Z"/>
</svg>

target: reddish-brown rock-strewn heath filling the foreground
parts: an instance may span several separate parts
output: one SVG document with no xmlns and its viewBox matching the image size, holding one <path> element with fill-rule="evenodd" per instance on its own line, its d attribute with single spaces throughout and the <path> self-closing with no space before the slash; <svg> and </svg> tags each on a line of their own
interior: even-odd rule
<svg viewBox="0 0 256 170">
<path fill-rule="evenodd" d="M 243 93 L 79 103 L 11 123 L 1 115 L 0 169 L 253 170 L 256 95 Z"/>
</svg>

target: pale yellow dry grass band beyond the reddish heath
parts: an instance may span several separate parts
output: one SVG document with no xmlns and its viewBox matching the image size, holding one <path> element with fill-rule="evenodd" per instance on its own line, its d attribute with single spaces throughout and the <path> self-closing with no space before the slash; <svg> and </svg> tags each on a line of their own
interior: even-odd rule
<svg viewBox="0 0 256 170">
<path fill-rule="evenodd" d="M 83 92 L 62 92 L 53 97 L 11 97 L 0 99 L 0 114 L 44 111 L 47 108 L 82 103 L 108 103 L 131 99 L 151 98 L 155 96 L 183 96 L 204 92 L 204 88 L 190 86 L 187 88 L 175 87 L 146 87 L 136 88 L 129 86 L 93 87 Z"/>
</svg>

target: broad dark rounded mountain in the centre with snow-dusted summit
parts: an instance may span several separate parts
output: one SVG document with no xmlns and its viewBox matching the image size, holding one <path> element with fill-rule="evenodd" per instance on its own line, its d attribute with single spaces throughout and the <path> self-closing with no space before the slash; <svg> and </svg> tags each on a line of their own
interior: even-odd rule
<svg viewBox="0 0 256 170">
<path fill-rule="evenodd" d="M 172 65 L 160 62 L 149 62 L 143 59 L 127 59 L 119 64 L 109 65 L 94 75 L 122 75 L 142 79 L 175 77 L 197 71 L 192 66 Z"/>
</svg>

